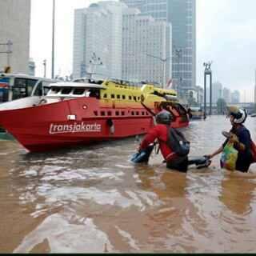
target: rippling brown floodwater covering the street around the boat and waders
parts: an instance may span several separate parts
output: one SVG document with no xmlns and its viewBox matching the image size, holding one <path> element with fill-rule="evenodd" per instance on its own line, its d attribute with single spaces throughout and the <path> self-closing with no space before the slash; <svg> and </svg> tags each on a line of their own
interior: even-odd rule
<svg viewBox="0 0 256 256">
<path fill-rule="evenodd" d="M 246 126 L 256 140 L 256 118 Z M 184 130 L 191 156 L 212 153 L 224 117 Z M 0 252 L 255 252 L 256 165 L 167 170 L 160 154 L 134 166 L 127 138 L 45 154 L 0 141 Z"/>
</svg>

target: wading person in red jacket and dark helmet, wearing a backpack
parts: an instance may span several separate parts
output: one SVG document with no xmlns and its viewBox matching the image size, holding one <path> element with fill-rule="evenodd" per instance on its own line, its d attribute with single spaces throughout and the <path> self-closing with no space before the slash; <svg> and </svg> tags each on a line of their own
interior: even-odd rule
<svg viewBox="0 0 256 256">
<path fill-rule="evenodd" d="M 167 168 L 186 172 L 190 164 L 202 167 L 210 165 L 210 162 L 207 162 L 208 158 L 188 159 L 190 142 L 180 131 L 170 128 L 172 122 L 170 112 L 162 110 L 155 116 L 155 119 L 157 125 L 146 134 L 138 149 L 138 152 L 143 152 L 144 155 L 138 153 L 132 158 L 133 162 L 147 162 L 153 150 L 152 145 L 158 139 L 159 148 Z"/>
</svg>

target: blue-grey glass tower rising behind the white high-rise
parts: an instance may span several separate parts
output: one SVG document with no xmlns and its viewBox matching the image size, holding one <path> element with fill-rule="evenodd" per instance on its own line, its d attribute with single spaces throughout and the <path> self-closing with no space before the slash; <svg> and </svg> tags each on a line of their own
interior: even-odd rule
<svg viewBox="0 0 256 256">
<path fill-rule="evenodd" d="M 196 1 L 121 0 L 172 26 L 172 78 L 182 91 L 196 85 Z"/>
</svg>

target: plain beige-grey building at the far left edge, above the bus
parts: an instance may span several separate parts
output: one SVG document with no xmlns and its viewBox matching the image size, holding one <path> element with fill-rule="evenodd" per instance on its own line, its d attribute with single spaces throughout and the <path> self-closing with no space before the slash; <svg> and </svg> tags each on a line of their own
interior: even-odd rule
<svg viewBox="0 0 256 256">
<path fill-rule="evenodd" d="M 0 70 L 27 74 L 30 60 L 30 0 L 0 1 Z M 6 45 L 10 42 L 10 48 Z"/>
</svg>

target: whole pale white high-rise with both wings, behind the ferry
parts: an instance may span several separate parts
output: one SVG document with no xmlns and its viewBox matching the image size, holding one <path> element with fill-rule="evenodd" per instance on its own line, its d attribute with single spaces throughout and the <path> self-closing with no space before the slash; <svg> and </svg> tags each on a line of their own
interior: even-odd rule
<svg viewBox="0 0 256 256">
<path fill-rule="evenodd" d="M 87 72 L 103 78 L 166 84 L 170 31 L 170 24 L 155 21 L 122 2 L 98 2 L 75 10 L 74 78 Z M 93 56 L 100 58 L 96 65 L 92 65 Z"/>
</svg>

